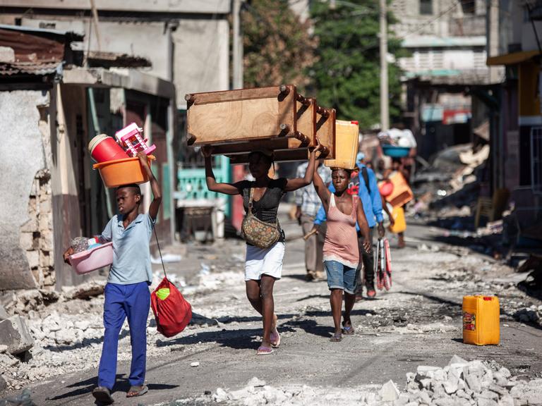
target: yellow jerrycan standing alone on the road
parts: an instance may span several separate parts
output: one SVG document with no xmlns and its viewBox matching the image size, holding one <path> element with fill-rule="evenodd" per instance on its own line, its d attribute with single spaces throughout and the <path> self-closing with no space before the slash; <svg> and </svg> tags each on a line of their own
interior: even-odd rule
<svg viewBox="0 0 542 406">
<path fill-rule="evenodd" d="M 499 300 L 496 296 L 463 297 L 463 343 L 497 345 L 500 340 Z"/>
</svg>

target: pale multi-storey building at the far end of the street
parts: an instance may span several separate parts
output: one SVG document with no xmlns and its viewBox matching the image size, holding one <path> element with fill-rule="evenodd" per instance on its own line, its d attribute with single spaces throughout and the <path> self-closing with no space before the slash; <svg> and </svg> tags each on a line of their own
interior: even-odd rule
<svg viewBox="0 0 542 406">
<path fill-rule="evenodd" d="M 469 142 L 483 117 L 466 91 L 490 82 L 483 0 L 394 0 L 392 30 L 409 53 L 404 71 L 404 118 L 429 158 L 442 147 Z M 476 121 L 476 119 L 475 119 Z"/>
</svg>

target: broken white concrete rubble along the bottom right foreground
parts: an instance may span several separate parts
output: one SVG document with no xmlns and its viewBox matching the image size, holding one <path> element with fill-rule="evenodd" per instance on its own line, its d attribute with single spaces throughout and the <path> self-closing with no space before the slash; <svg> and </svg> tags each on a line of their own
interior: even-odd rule
<svg viewBox="0 0 542 406">
<path fill-rule="evenodd" d="M 444 367 L 419 366 L 416 372 L 406 374 L 406 388 L 399 391 L 395 383 L 387 381 L 378 386 L 360 388 L 313 388 L 289 386 L 275 388 L 254 377 L 244 388 L 225 390 L 217 388 L 197 399 L 177 400 L 169 403 L 183 405 L 189 402 L 228 405 L 395 405 L 395 406 L 522 406 L 542 404 L 542 379 L 522 381 L 495 362 L 474 360 L 467 362 L 454 355 Z M 165 404 L 164 404 L 165 405 Z"/>
</svg>

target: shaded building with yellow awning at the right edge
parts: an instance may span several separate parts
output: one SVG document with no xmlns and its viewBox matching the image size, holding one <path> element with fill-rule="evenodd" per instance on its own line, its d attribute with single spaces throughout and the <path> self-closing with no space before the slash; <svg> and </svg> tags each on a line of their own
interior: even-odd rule
<svg viewBox="0 0 542 406">
<path fill-rule="evenodd" d="M 542 4 L 488 0 L 488 66 L 505 67 L 493 94 L 491 175 L 511 193 L 517 245 L 542 247 Z"/>
</svg>

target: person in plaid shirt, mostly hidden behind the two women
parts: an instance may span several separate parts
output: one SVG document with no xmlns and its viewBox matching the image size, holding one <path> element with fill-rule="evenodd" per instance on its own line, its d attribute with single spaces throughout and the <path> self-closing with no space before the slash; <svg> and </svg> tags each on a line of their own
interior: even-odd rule
<svg viewBox="0 0 542 406">
<path fill-rule="evenodd" d="M 331 170 L 321 161 L 318 162 L 318 175 L 325 185 L 331 182 Z M 297 178 L 303 178 L 307 171 L 308 162 L 297 167 Z M 311 232 L 314 219 L 320 208 L 320 197 L 314 185 L 308 185 L 296 190 L 296 219 L 303 230 L 303 235 Z M 307 281 L 321 281 L 324 278 L 324 262 L 322 250 L 324 247 L 325 223 L 320 225 L 318 233 L 313 233 L 305 240 L 305 268 Z"/>
</svg>

